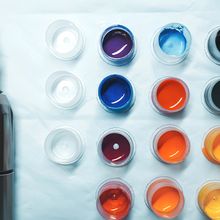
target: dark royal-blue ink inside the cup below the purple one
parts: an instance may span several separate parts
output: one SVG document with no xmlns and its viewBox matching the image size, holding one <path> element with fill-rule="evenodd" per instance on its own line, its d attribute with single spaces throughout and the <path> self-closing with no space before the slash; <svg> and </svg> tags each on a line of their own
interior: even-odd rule
<svg viewBox="0 0 220 220">
<path fill-rule="evenodd" d="M 131 87 L 121 78 L 109 79 L 102 87 L 103 102 L 110 107 L 122 107 L 131 99 Z"/>
</svg>

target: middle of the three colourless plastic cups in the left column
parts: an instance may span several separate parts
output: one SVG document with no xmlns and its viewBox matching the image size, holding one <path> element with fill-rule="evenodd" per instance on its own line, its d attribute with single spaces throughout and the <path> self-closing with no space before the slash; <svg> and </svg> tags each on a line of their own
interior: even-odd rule
<svg viewBox="0 0 220 220">
<path fill-rule="evenodd" d="M 85 91 L 77 76 L 69 72 L 58 71 L 48 77 L 46 94 L 56 107 L 73 109 L 81 104 Z"/>
</svg>

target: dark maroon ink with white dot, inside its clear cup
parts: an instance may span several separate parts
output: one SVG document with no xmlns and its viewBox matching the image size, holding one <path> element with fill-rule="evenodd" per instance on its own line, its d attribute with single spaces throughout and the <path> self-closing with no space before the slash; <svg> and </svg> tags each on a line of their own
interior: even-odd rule
<svg viewBox="0 0 220 220">
<path fill-rule="evenodd" d="M 102 141 L 102 153 L 112 163 L 122 163 L 131 153 L 131 146 L 126 137 L 121 134 L 112 133 Z"/>
</svg>

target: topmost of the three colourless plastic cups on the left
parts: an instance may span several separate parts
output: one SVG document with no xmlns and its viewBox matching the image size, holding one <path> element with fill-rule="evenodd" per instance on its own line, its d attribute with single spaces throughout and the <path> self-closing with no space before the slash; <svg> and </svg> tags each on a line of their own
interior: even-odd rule
<svg viewBox="0 0 220 220">
<path fill-rule="evenodd" d="M 78 27 L 67 20 L 57 20 L 49 25 L 46 43 L 50 52 L 61 60 L 77 58 L 84 47 L 84 39 Z"/>
</svg>

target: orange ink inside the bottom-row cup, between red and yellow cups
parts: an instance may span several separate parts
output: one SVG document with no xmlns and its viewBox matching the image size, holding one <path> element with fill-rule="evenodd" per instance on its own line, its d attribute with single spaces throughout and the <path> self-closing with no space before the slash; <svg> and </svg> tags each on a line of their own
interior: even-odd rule
<svg viewBox="0 0 220 220">
<path fill-rule="evenodd" d="M 175 212 L 180 203 L 180 194 L 173 187 L 162 187 L 158 189 L 152 198 L 152 208 L 163 217 L 163 215 Z"/>
</svg>

